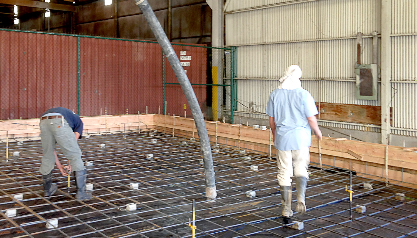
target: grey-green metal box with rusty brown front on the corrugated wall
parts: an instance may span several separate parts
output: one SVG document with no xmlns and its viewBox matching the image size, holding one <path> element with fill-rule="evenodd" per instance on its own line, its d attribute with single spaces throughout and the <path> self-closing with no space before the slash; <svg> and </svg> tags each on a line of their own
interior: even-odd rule
<svg viewBox="0 0 417 238">
<path fill-rule="evenodd" d="M 377 100 L 377 65 L 357 65 L 356 98 L 364 100 Z"/>
</svg>

